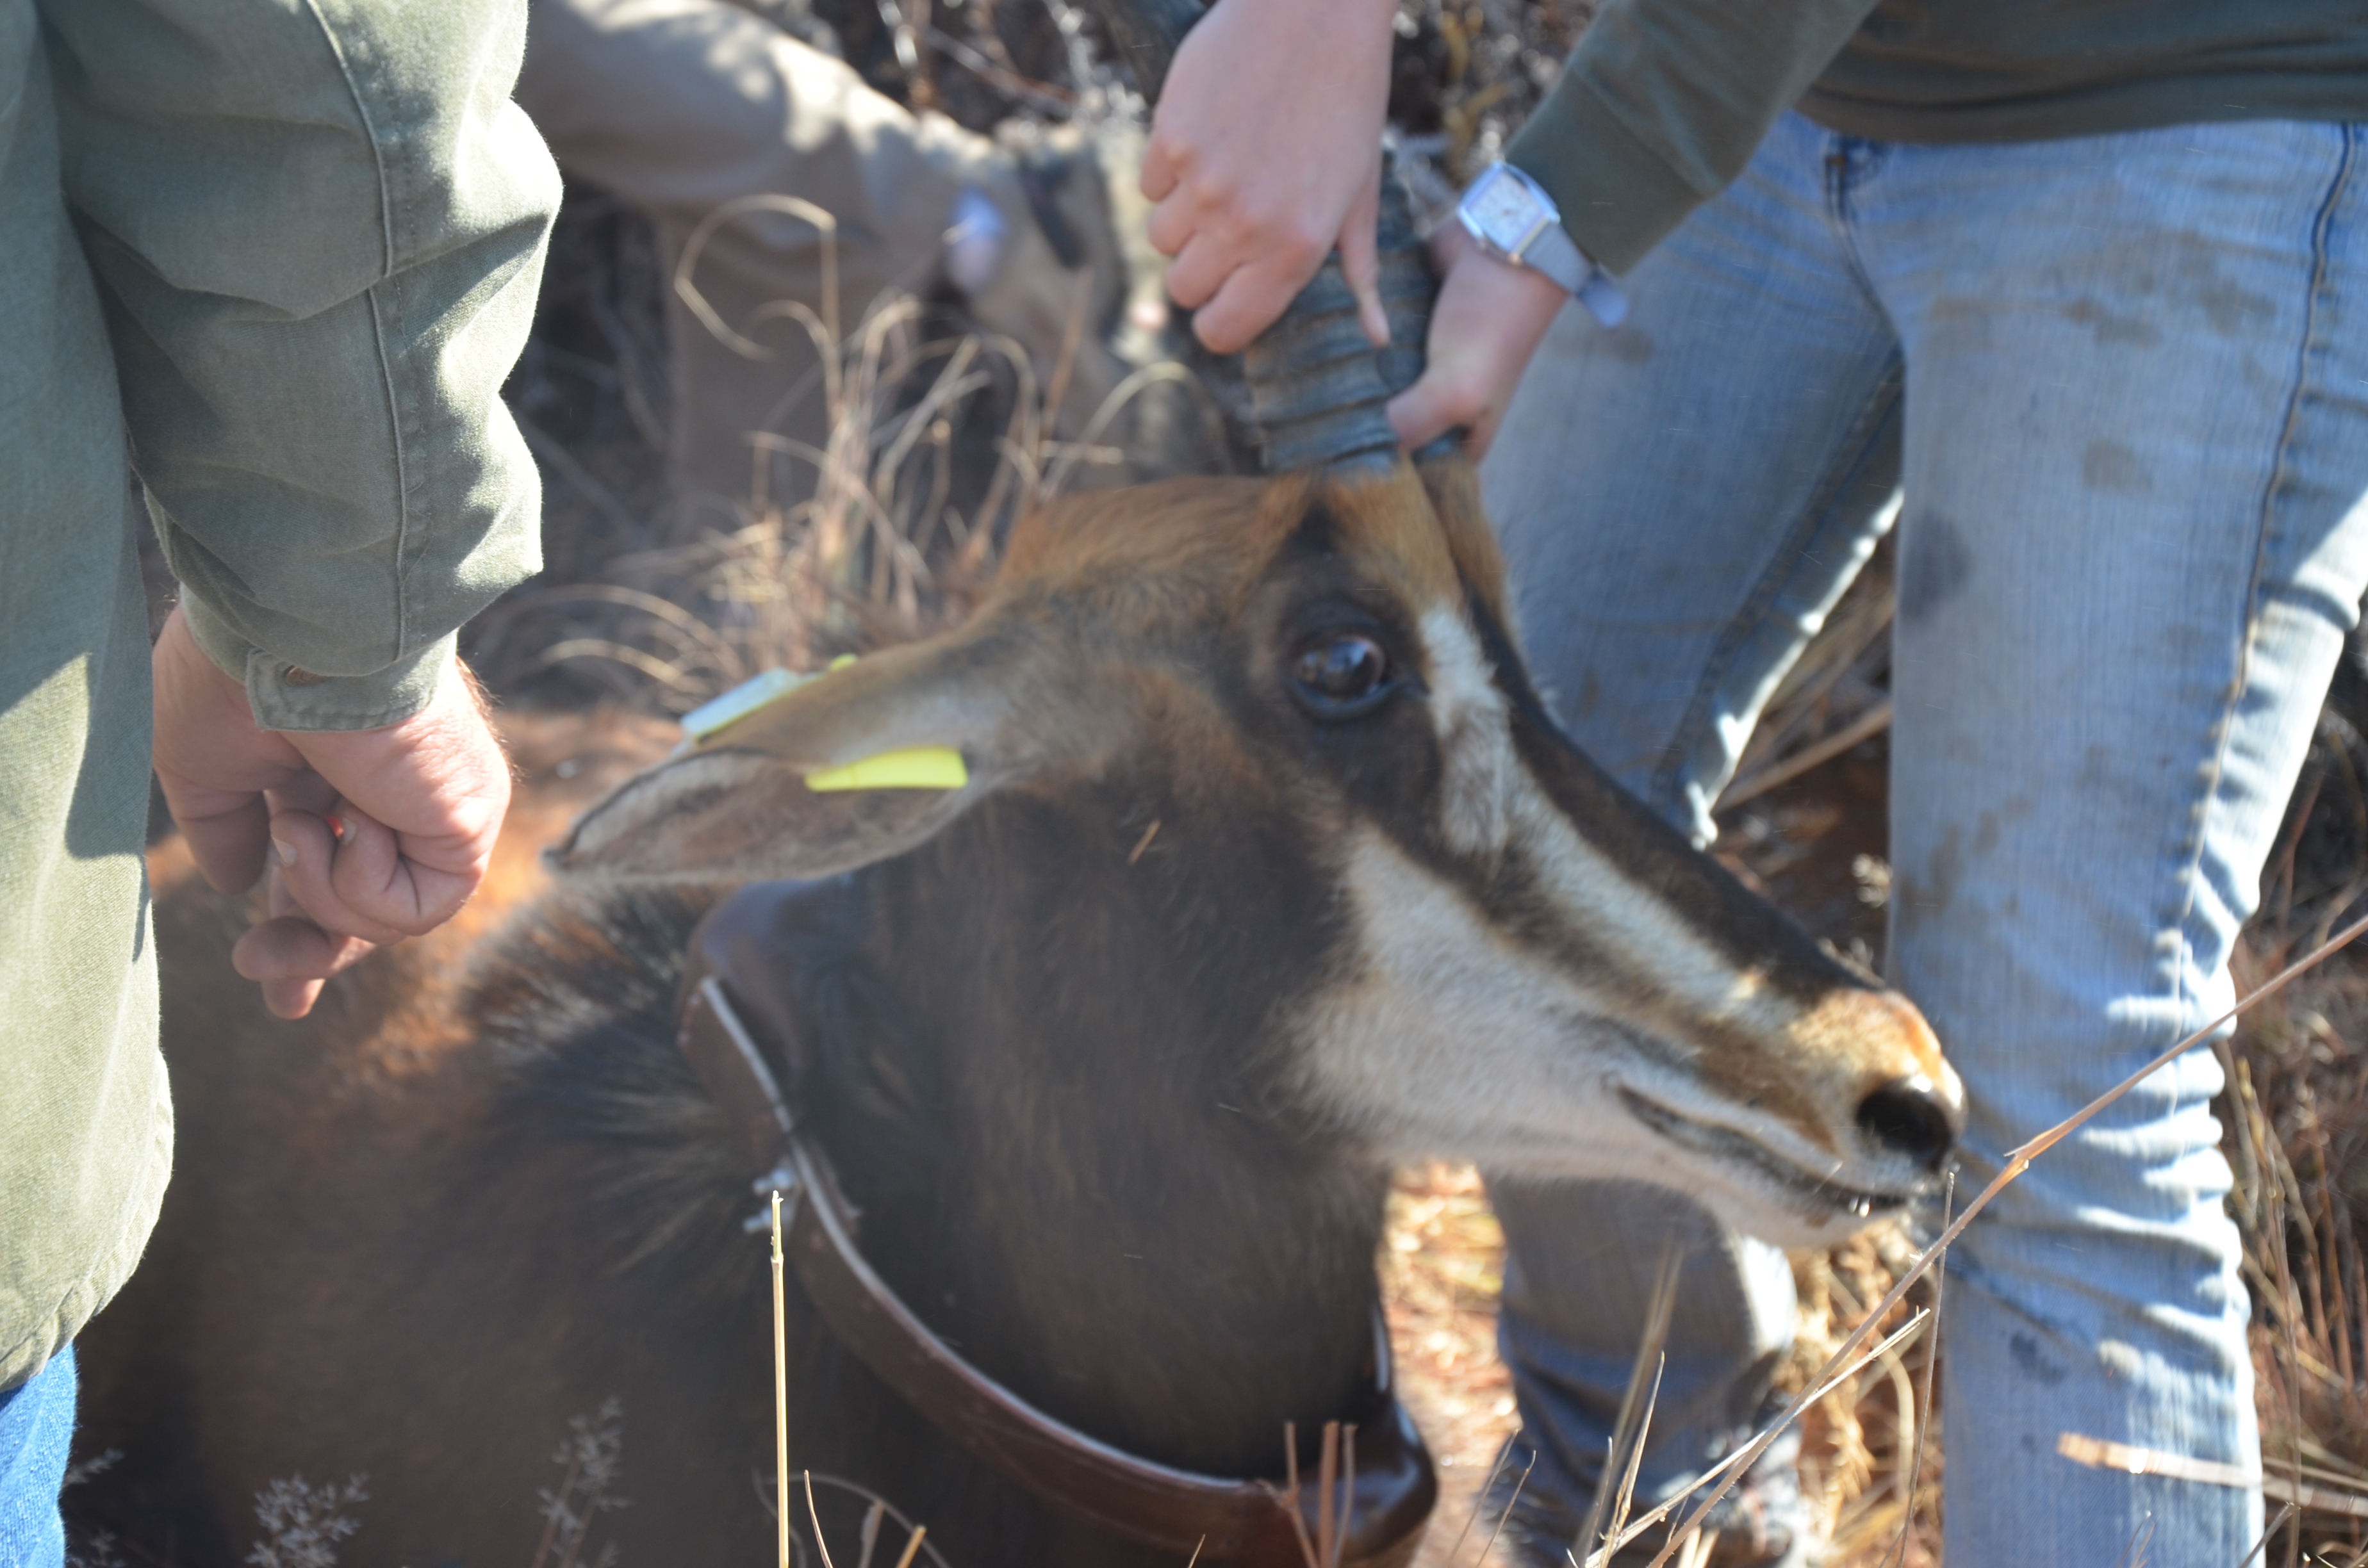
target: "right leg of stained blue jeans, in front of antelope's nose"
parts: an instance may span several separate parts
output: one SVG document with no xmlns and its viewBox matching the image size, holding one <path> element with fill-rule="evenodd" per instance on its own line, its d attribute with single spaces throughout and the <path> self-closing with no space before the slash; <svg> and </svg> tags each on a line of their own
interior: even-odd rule
<svg viewBox="0 0 2368 1568">
<path fill-rule="evenodd" d="M 1864 149 L 1906 353 L 1894 981 L 1965 1191 L 2233 1002 L 2228 952 L 2368 585 L 2368 230 L 2344 126 Z M 2228 1568 L 2257 1490 L 2207 1052 L 2041 1156 L 1951 1255 L 1949 1568 Z"/>
</svg>

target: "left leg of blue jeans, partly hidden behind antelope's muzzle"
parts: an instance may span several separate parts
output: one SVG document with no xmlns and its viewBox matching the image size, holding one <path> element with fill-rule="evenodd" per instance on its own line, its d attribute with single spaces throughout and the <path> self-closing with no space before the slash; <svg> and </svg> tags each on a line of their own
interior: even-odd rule
<svg viewBox="0 0 2368 1568">
<path fill-rule="evenodd" d="M 1549 701 L 1703 841 L 1759 706 L 1871 554 L 1897 483 L 1897 348 L 1830 218 L 1823 142 L 1781 126 L 1624 279 L 1617 332 L 1565 310 L 1482 464 Z M 1665 1244 L 1686 1265 L 1643 1495 L 1750 1421 L 1793 1336 L 1793 1277 L 1672 1194 L 1492 1180 L 1489 1196 L 1511 1251 L 1501 1348 L 1539 1454 L 1523 1514 L 1575 1535 Z"/>
</svg>

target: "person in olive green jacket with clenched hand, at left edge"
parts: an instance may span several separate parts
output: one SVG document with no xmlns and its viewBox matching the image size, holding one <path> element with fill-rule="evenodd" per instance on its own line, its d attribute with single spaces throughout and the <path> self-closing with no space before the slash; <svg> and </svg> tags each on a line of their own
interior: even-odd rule
<svg viewBox="0 0 2368 1568">
<path fill-rule="evenodd" d="M 0 1563 L 62 1561 L 71 1341 L 170 1165 L 152 661 L 199 867 L 272 867 L 237 964 L 284 1016 L 450 917 L 500 827 L 455 628 L 538 566 L 497 396 L 559 201 L 523 28 L 0 0 Z M 142 500 L 182 583 L 154 654 Z"/>
</svg>

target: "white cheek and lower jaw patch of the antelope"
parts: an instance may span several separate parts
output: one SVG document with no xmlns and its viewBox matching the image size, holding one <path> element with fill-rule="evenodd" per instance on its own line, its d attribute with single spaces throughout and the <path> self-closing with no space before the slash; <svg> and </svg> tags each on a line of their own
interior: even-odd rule
<svg viewBox="0 0 2368 1568">
<path fill-rule="evenodd" d="M 1622 1085 L 1748 1130 L 1762 1146 L 1797 1146 L 1767 1116 L 1643 1059 L 1617 1026 L 1615 1000 L 1506 940 L 1461 888 L 1385 836 L 1352 843 L 1345 893 L 1359 962 L 1293 1023 L 1300 1087 L 1378 1161 L 1456 1156 L 1539 1180 L 1653 1180 L 1783 1241 L 1854 1227 L 1840 1210 L 1807 1210 L 1745 1163 L 1679 1146 L 1636 1120 Z"/>
</svg>

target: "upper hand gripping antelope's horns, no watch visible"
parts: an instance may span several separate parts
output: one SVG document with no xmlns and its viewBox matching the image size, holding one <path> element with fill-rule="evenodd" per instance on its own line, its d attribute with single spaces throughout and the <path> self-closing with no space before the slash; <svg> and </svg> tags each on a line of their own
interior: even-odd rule
<svg viewBox="0 0 2368 1568">
<path fill-rule="evenodd" d="M 1144 197 L 1167 294 L 1212 353 L 1274 324 L 1338 244 L 1364 332 L 1390 341 L 1373 258 L 1397 0 L 1217 0 L 1167 69 Z"/>
</svg>

